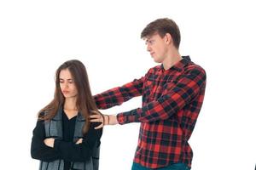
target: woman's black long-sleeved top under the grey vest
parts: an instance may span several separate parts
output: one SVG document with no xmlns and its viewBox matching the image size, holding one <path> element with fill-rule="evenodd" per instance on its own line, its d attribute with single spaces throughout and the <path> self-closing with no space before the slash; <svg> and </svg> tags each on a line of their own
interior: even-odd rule
<svg viewBox="0 0 256 170">
<path fill-rule="evenodd" d="M 102 128 L 94 129 L 100 123 L 91 122 L 89 131 L 84 135 L 82 144 L 73 143 L 73 134 L 77 116 L 68 119 L 62 111 L 63 138 L 55 139 L 54 148 L 44 144 L 45 130 L 44 121 L 38 121 L 33 130 L 31 155 L 32 158 L 41 161 L 64 160 L 64 169 L 70 167 L 70 161 L 84 161 L 92 155 L 92 148 L 100 144 Z"/>
</svg>

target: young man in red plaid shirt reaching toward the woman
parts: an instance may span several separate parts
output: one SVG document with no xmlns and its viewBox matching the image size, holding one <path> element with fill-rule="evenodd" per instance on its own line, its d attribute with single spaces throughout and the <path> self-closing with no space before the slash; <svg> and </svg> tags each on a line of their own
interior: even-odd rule
<svg viewBox="0 0 256 170">
<path fill-rule="evenodd" d="M 141 34 L 157 65 L 133 82 L 94 96 L 99 109 L 143 96 L 141 108 L 105 115 L 105 125 L 141 122 L 132 170 L 189 169 L 192 150 L 188 140 L 201 111 L 206 72 L 189 56 L 178 52 L 180 31 L 173 20 L 154 20 Z M 91 122 L 103 122 L 91 116 Z M 103 125 L 101 125 L 102 127 Z"/>
</svg>

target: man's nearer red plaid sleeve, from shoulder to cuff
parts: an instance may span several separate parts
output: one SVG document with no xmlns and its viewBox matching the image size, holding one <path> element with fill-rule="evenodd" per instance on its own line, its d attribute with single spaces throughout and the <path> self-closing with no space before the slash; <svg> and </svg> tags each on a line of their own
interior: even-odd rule
<svg viewBox="0 0 256 170">
<path fill-rule="evenodd" d="M 206 72 L 202 68 L 186 71 L 175 86 L 142 108 L 119 113 L 119 124 L 166 120 L 194 99 L 206 86 Z"/>
</svg>

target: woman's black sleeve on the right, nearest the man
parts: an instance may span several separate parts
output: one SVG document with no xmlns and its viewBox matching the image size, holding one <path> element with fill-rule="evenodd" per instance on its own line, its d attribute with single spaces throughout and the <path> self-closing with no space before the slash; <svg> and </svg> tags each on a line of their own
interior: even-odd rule
<svg viewBox="0 0 256 170">
<path fill-rule="evenodd" d="M 62 141 L 55 139 L 54 150 L 61 155 L 61 159 L 65 161 L 84 161 L 92 156 L 94 147 L 100 145 L 102 137 L 102 128 L 94 129 L 100 123 L 90 123 L 88 133 L 84 135 L 82 144 L 75 144 L 73 142 Z"/>
</svg>

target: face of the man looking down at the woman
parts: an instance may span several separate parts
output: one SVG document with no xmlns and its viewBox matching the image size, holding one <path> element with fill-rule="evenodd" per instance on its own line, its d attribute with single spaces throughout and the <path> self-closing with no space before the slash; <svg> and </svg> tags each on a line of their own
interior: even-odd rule
<svg viewBox="0 0 256 170">
<path fill-rule="evenodd" d="M 156 33 L 150 37 L 145 37 L 144 40 L 147 45 L 147 51 L 150 53 L 154 61 L 156 63 L 162 63 L 163 60 L 166 59 L 166 36 L 160 37 L 160 35 Z"/>
</svg>

